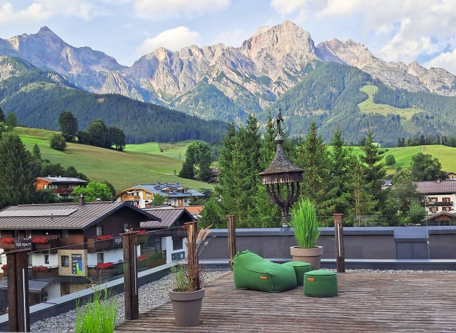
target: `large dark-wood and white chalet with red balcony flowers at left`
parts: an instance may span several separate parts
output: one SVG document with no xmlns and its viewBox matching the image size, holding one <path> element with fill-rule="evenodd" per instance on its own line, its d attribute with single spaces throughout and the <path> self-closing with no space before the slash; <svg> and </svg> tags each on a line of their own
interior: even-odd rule
<svg viewBox="0 0 456 333">
<path fill-rule="evenodd" d="M 160 221 L 128 203 L 85 202 L 83 197 L 79 203 L 9 206 L 0 210 L 0 252 L 31 249 L 32 305 L 123 273 L 120 233 L 139 231 L 141 222 L 151 220 Z M 1 259 L 3 275 L 4 253 Z M 7 281 L 0 280 L 0 292 L 6 293 L 6 287 Z"/>
</svg>

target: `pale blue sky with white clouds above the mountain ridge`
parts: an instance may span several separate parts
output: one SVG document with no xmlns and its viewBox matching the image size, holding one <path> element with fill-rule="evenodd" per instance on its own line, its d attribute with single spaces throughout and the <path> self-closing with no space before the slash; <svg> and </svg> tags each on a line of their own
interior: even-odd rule
<svg viewBox="0 0 456 333">
<path fill-rule="evenodd" d="M 315 45 L 353 39 L 382 60 L 417 60 L 456 75 L 455 0 L 0 0 L 1 39 L 47 26 L 69 45 L 126 66 L 159 46 L 239 47 L 286 20 Z"/>
</svg>

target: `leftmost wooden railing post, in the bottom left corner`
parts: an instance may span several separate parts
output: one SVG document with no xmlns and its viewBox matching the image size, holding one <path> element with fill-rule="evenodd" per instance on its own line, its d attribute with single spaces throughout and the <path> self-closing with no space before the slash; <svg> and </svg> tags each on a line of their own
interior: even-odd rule
<svg viewBox="0 0 456 333">
<path fill-rule="evenodd" d="M 10 332 L 30 332 L 29 250 L 6 252 L 8 329 Z"/>
</svg>

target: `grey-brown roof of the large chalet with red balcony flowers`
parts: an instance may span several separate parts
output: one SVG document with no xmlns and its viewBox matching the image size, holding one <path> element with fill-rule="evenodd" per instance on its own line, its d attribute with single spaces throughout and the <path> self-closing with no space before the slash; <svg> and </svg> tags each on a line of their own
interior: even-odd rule
<svg viewBox="0 0 456 333">
<path fill-rule="evenodd" d="M 159 219 L 129 203 L 86 202 L 9 206 L 0 210 L 0 229 L 86 230 L 117 210 L 135 210 L 145 220 Z"/>
</svg>

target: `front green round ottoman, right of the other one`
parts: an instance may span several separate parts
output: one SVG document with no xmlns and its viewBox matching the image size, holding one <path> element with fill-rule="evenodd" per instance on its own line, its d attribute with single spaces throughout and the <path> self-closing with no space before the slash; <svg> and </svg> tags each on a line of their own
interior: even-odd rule
<svg viewBox="0 0 456 333">
<path fill-rule="evenodd" d="M 304 273 L 304 295 L 316 297 L 337 296 L 337 274 L 322 269 Z"/>
</svg>

